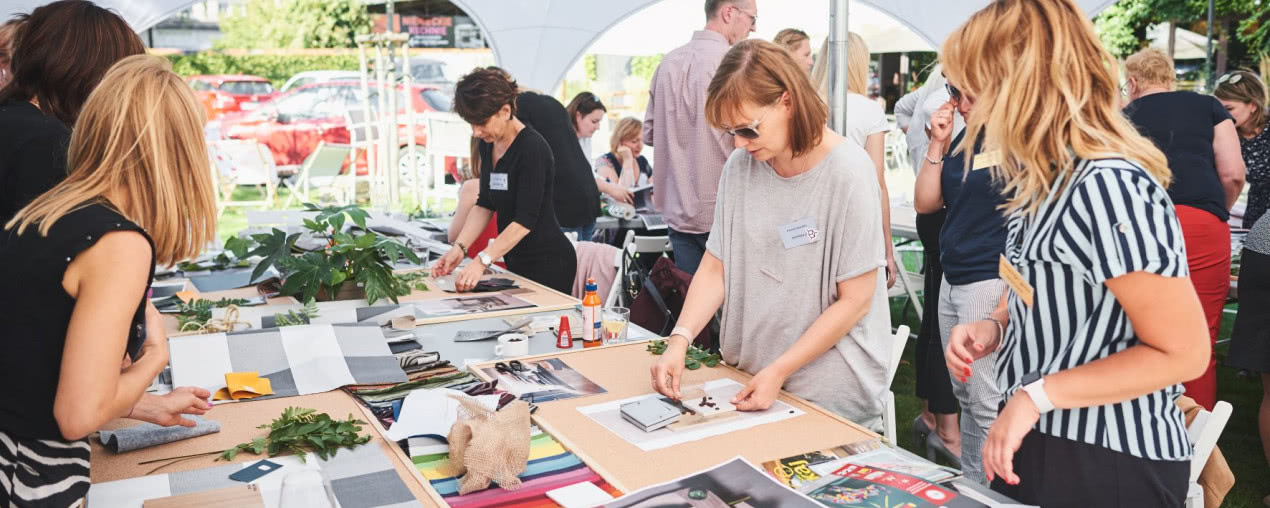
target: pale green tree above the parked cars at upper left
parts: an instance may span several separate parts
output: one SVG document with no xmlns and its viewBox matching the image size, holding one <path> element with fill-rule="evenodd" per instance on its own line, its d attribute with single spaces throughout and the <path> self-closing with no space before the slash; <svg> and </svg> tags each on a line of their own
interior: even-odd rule
<svg viewBox="0 0 1270 508">
<path fill-rule="evenodd" d="M 249 0 L 221 22 L 220 48 L 340 48 L 370 33 L 359 0 Z"/>
</svg>

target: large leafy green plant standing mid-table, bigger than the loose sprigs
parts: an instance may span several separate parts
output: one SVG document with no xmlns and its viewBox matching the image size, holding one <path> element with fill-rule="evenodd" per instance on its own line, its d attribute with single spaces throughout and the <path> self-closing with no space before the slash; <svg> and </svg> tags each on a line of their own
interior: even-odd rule
<svg viewBox="0 0 1270 508">
<path fill-rule="evenodd" d="M 287 235 L 274 229 L 272 232 L 253 235 L 259 246 L 250 254 L 264 260 L 255 267 L 251 278 L 255 279 L 268 267 L 274 267 L 283 274 L 282 293 L 310 301 L 325 292 L 326 298 L 334 298 L 345 282 L 357 283 L 366 292 L 366 301 L 375 305 L 378 300 L 398 301 L 399 296 L 409 295 L 409 283 L 394 277 L 392 263 L 406 259 L 419 264 L 419 257 L 405 244 L 380 236 L 366 227 L 368 215 L 357 206 L 319 207 L 305 203 L 305 210 L 318 212 L 314 218 L 305 220 L 305 229 L 326 239 L 326 246 L 318 251 L 292 255 L 300 234 Z M 363 231 L 359 235 L 344 231 L 347 221 L 352 221 Z"/>
</svg>

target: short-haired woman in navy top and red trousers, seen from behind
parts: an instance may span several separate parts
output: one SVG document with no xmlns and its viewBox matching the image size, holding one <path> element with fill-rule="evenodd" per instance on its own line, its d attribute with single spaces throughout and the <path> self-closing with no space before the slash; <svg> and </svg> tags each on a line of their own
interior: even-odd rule
<svg viewBox="0 0 1270 508">
<path fill-rule="evenodd" d="M 1125 91 L 1133 99 L 1125 113 L 1168 159 L 1173 183 L 1168 197 L 1177 210 L 1186 243 L 1191 283 L 1204 305 L 1209 343 L 1217 347 L 1222 309 L 1231 290 L 1229 210 L 1243 190 L 1234 121 L 1213 97 L 1172 91 L 1173 61 L 1163 51 L 1142 50 L 1124 62 Z M 1185 384 L 1186 396 L 1212 410 L 1217 404 L 1217 356 L 1208 371 Z"/>
</svg>

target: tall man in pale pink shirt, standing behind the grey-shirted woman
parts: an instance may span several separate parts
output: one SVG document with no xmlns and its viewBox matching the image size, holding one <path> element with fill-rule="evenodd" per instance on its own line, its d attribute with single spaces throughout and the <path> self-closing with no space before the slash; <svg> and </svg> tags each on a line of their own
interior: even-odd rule
<svg viewBox="0 0 1270 508">
<path fill-rule="evenodd" d="M 732 44 L 754 32 L 756 0 L 706 0 L 706 27 L 662 58 L 649 86 L 644 144 L 653 154 L 653 204 L 669 226 L 674 264 L 696 273 L 714 221 L 732 136 L 706 123 L 706 88 Z"/>
</svg>

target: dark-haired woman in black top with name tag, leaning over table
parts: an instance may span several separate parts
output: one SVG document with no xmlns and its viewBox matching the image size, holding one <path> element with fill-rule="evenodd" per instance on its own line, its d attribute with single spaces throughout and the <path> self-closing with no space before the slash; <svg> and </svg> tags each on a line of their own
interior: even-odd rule
<svg viewBox="0 0 1270 508">
<path fill-rule="evenodd" d="M 522 94 L 523 98 L 523 94 Z M 490 215 L 498 212 L 498 237 L 455 279 L 469 291 L 498 258 L 507 268 L 552 290 L 569 293 L 578 260 L 560 231 L 552 206 L 554 160 L 547 142 L 517 118 L 516 81 L 502 69 L 478 69 L 458 80 L 455 112 L 481 138 L 480 196 L 467 213 L 455 246 L 433 267 L 436 277 L 458 267 Z M 564 108 L 561 108 L 563 112 Z M 561 119 L 568 119 L 561 113 Z M 582 152 L 577 141 L 569 144 Z"/>
</svg>

